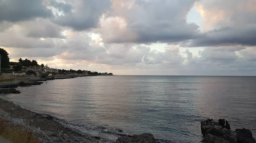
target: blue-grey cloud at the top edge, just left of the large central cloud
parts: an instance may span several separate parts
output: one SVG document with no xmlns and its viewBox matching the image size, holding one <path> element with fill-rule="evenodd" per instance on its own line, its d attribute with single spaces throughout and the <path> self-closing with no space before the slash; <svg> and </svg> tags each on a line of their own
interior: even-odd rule
<svg viewBox="0 0 256 143">
<path fill-rule="evenodd" d="M 61 26 L 73 28 L 76 31 L 82 31 L 90 28 L 96 28 L 99 18 L 111 6 L 110 0 L 74 0 L 73 3 L 54 3 L 53 6 L 61 8 L 64 15 L 57 16 L 53 22 Z M 70 8 L 72 5 L 72 10 Z"/>
</svg>

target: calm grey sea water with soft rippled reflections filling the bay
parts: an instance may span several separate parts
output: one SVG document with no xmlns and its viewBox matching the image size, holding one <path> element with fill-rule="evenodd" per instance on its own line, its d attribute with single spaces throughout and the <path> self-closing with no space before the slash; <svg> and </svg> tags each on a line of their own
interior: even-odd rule
<svg viewBox="0 0 256 143">
<path fill-rule="evenodd" d="M 247 128 L 256 136 L 256 77 L 97 76 L 18 90 L 5 98 L 96 135 L 104 136 L 93 126 L 105 126 L 131 135 L 150 132 L 162 142 L 196 143 L 201 120 L 225 118 L 231 129 Z"/>
</svg>

